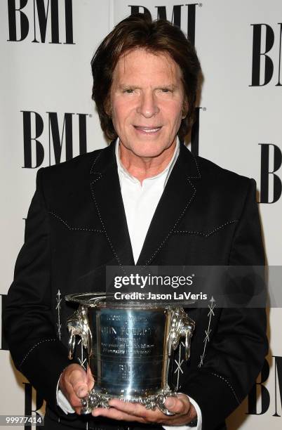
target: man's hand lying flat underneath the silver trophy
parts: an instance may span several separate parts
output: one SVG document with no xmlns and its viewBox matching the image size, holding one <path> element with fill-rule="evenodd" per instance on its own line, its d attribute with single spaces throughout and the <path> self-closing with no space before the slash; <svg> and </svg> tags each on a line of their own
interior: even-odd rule
<svg viewBox="0 0 282 430">
<path fill-rule="evenodd" d="M 109 400 L 111 408 L 96 408 L 92 411 L 93 417 L 107 417 L 121 421 L 137 421 L 145 424 L 163 424 L 168 426 L 189 424 L 196 419 L 196 410 L 184 394 L 177 397 L 168 397 L 165 406 L 175 415 L 164 415 L 159 409 L 149 410 L 139 403 L 123 402 L 116 398 Z"/>
</svg>

